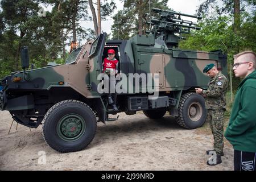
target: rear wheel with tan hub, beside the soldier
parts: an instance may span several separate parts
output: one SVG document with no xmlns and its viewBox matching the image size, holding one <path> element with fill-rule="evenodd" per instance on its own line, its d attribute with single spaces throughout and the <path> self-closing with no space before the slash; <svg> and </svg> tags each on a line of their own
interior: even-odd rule
<svg viewBox="0 0 256 182">
<path fill-rule="evenodd" d="M 196 93 L 185 93 L 181 96 L 177 123 L 185 129 L 196 129 L 201 127 L 207 117 L 204 97 Z"/>
</svg>

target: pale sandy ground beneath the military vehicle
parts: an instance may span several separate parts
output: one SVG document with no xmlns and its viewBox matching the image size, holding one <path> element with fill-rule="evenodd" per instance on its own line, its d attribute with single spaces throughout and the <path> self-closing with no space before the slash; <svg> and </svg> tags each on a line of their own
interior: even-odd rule
<svg viewBox="0 0 256 182">
<path fill-rule="evenodd" d="M 83 151 L 60 154 L 47 146 L 38 129 L 18 125 L 0 111 L 0 170 L 233 170 L 233 148 L 225 140 L 222 163 L 207 166 L 213 137 L 208 123 L 185 130 L 174 118 L 148 119 L 142 113 L 119 114 L 119 120 L 98 123 L 96 137 Z M 46 164 L 42 154 L 46 154 Z M 38 155 L 40 154 L 40 155 Z"/>
</svg>

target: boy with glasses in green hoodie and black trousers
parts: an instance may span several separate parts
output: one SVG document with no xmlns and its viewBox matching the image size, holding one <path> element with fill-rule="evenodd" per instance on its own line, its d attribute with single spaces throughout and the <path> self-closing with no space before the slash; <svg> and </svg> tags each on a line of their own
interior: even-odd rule
<svg viewBox="0 0 256 182">
<path fill-rule="evenodd" d="M 237 90 L 225 138 L 234 148 L 234 170 L 256 171 L 256 55 L 234 55 L 233 71 L 244 78 Z"/>
</svg>

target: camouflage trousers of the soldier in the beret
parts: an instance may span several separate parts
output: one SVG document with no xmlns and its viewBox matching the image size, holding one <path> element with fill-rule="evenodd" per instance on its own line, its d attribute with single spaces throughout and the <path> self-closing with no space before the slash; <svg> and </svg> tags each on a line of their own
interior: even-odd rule
<svg viewBox="0 0 256 182">
<path fill-rule="evenodd" d="M 207 119 L 209 120 L 210 129 L 212 130 L 214 139 L 214 150 L 217 153 L 223 152 L 224 148 L 224 109 L 221 110 L 211 110 L 208 109 Z"/>
</svg>

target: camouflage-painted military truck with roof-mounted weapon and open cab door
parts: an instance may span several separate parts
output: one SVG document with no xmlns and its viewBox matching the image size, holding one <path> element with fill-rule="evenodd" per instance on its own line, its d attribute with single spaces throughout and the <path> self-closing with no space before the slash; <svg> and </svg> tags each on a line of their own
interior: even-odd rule
<svg viewBox="0 0 256 182">
<path fill-rule="evenodd" d="M 148 22 L 152 28 L 147 35 L 106 41 L 106 34 L 101 34 L 73 51 L 64 65 L 26 70 L 28 49 L 23 48 L 23 71 L 1 80 L 1 110 L 10 111 L 13 119 L 24 126 L 37 128 L 42 124 L 46 143 L 60 152 L 79 151 L 88 146 L 96 134 L 97 122 L 114 121 L 118 117 L 110 118 L 109 114 L 119 112 L 131 115 L 142 110 L 148 118 L 156 119 L 169 111 L 181 127 L 200 127 L 207 111 L 204 97 L 196 94 L 195 88 L 208 86 L 209 77 L 203 73 L 206 64 L 214 63 L 227 74 L 226 56 L 221 52 L 177 48 L 181 34 L 188 34 L 191 28 L 200 29 L 180 17 L 199 17 L 152 11 L 159 14 L 159 19 Z M 107 94 L 98 91 L 102 84 L 98 76 L 109 48 L 114 49 L 119 60 L 121 81 L 128 80 L 131 74 L 140 76 L 139 92 L 115 94 L 118 111 L 109 106 Z M 157 78 L 158 84 L 152 88 L 157 90 L 158 97 L 150 98 L 156 91 L 143 91 L 143 73 L 152 73 L 147 81 Z M 134 91 L 135 84 L 127 84 L 126 89 Z"/>
</svg>

